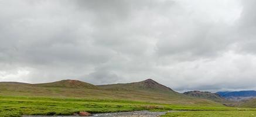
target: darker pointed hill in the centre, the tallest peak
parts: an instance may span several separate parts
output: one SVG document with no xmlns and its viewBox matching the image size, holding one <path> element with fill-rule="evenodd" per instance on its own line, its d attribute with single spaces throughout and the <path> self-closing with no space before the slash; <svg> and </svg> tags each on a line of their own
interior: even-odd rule
<svg viewBox="0 0 256 117">
<path fill-rule="evenodd" d="M 98 85 L 105 90 L 119 90 L 119 91 L 151 91 L 151 92 L 163 92 L 163 93 L 178 93 L 165 85 L 159 84 L 152 79 L 147 79 L 140 82 L 132 82 L 127 84 L 108 84 Z"/>
</svg>

